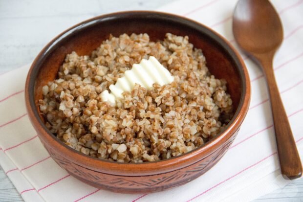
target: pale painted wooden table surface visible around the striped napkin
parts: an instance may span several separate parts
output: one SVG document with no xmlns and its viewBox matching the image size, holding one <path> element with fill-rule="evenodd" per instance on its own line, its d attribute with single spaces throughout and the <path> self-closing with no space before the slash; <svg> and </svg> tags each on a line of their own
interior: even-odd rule
<svg viewBox="0 0 303 202">
<path fill-rule="evenodd" d="M 88 18 L 121 10 L 152 10 L 173 0 L 0 0 L 0 73 L 33 61 L 57 34 Z M 303 179 L 255 202 L 303 202 Z M 0 167 L 0 202 L 23 202 Z"/>
</svg>

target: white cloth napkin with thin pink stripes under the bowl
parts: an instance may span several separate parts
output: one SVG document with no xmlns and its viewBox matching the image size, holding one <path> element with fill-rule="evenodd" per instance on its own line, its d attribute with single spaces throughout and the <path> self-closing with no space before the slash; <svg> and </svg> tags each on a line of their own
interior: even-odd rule
<svg viewBox="0 0 303 202">
<path fill-rule="evenodd" d="M 237 46 L 232 12 L 237 0 L 180 0 L 159 10 L 202 22 Z M 303 0 L 274 0 L 284 26 L 275 75 L 303 157 Z M 204 50 L 207 51 L 207 50 Z M 243 55 L 252 84 L 250 110 L 226 155 L 183 186 L 153 194 L 117 194 L 71 177 L 49 157 L 27 117 L 24 82 L 29 66 L 0 75 L 0 165 L 26 202 L 250 201 L 289 183 L 280 176 L 273 119 L 263 74 Z"/>
</svg>

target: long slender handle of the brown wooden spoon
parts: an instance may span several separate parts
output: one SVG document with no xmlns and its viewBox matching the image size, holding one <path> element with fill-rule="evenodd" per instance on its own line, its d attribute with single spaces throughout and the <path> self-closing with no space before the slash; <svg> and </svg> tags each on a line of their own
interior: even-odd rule
<svg viewBox="0 0 303 202">
<path fill-rule="evenodd" d="M 281 173 L 289 179 L 300 178 L 302 176 L 302 163 L 276 83 L 273 69 L 273 57 L 268 57 L 267 55 L 259 57 L 259 60 L 267 79 Z"/>
</svg>

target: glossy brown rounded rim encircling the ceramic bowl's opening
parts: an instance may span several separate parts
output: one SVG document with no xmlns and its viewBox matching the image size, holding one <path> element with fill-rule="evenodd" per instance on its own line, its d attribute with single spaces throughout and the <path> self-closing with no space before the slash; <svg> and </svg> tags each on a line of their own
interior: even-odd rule
<svg viewBox="0 0 303 202">
<path fill-rule="evenodd" d="M 109 161 L 107 159 L 99 159 L 96 157 L 89 157 L 85 154 L 82 154 L 75 149 L 70 148 L 65 145 L 62 141 L 56 138 L 50 131 L 45 127 L 43 121 L 41 120 L 38 110 L 36 109 L 35 99 L 34 99 L 34 86 L 35 79 L 37 76 L 37 70 L 39 70 L 39 62 L 46 55 L 45 53 L 52 49 L 52 46 L 56 43 L 60 43 L 62 39 L 65 39 L 65 36 L 72 34 L 73 31 L 77 29 L 83 29 L 87 25 L 92 23 L 97 23 L 104 19 L 110 19 L 111 17 L 123 16 L 123 15 L 160 15 L 168 18 L 181 19 L 196 27 L 200 27 L 203 29 L 203 33 L 208 37 L 212 38 L 217 44 L 221 45 L 222 48 L 225 49 L 226 52 L 230 55 L 230 57 L 234 60 L 235 66 L 237 67 L 239 77 L 241 79 L 241 97 L 238 104 L 238 108 L 234 113 L 233 118 L 226 126 L 226 129 L 220 132 L 214 139 L 208 141 L 203 146 L 198 147 L 188 153 L 182 154 L 177 157 L 172 157 L 169 159 L 163 159 L 154 162 L 143 162 L 143 163 L 122 163 Z M 202 32 L 202 30 L 200 30 Z M 205 33 L 208 32 L 208 33 Z M 33 77 L 33 75 L 35 77 Z M 40 53 L 37 55 L 35 60 L 33 61 L 26 78 L 25 83 L 25 103 L 28 112 L 28 116 L 31 120 L 32 125 L 38 133 L 39 138 L 42 140 L 44 144 L 55 146 L 58 150 L 57 152 L 68 158 L 71 162 L 93 171 L 102 172 L 106 174 L 114 174 L 114 175 L 128 175 L 128 176 L 144 176 L 152 174 L 160 174 L 165 172 L 171 172 L 174 170 L 178 170 L 184 167 L 187 167 L 198 160 L 201 157 L 207 157 L 215 152 L 220 145 L 224 144 L 240 127 L 246 113 L 248 111 L 249 103 L 250 103 L 250 95 L 251 95 L 251 87 L 250 87 L 250 79 L 248 75 L 248 71 L 243 62 L 243 59 L 239 55 L 238 51 L 221 35 L 219 35 L 216 31 L 212 30 L 210 27 L 196 22 L 194 20 L 188 19 L 183 16 L 159 12 L 159 11 L 122 11 L 109 13 L 105 15 L 100 15 L 94 18 L 90 18 L 86 21 L 77 23 L 76 25 L 66 29 L 64 32 L 56 36 L 53 40 L 51 40 L 47 45 L 43 47 Z M 214 149 L 215 148 L 215 149 Z M 213 150 L 213 151 L 211 151 Z"/>
</svg>

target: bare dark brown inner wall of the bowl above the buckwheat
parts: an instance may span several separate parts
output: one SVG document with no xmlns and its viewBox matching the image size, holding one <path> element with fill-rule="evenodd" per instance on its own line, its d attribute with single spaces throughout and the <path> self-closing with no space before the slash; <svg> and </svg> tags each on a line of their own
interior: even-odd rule
<svg viewBox="0 0 303 202">
<path fill-rule="evenodd" d="M 163 40 L 168 32 L 180 36 L 187 35 L 190 43 L 202 49 L 210 72 L 216 78 L 224 78 L 227 81 L 228 92 L 231 94 L 236 111 L 241 97 L 240 72 L 230 56 L 234 53 L 228 53 L 228 48 L 221 38 L 206 27 L 181 18 L 154 13 L 130 14 L 126 12 L 78 25 L 47 48 L 42 60 L 37 61 L 34 96 L 38 112 L 38 100 L 42 98 L 42 87 L 56 78 L 66 54 L 76 51 L 79 55 L 90 55 L 104 40 L 108 39 L 109 34 L 119 36 L 123 33 L 148 33 L 151 41 L 158 41 Z"/>
</svg>

